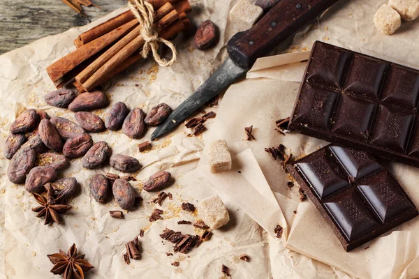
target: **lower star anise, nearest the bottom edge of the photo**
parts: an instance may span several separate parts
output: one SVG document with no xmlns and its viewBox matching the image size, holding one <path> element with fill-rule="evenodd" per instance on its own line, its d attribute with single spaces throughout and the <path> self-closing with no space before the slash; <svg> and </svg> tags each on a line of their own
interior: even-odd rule
<svg viewBox="0 0 419 279">
<path fill-rule="evenodd" d="M 77 255 L 75 244 L 71 246 L 67 253 L 60 249 L 59 253 L 47 256 L 54 264 L 51 272 L 64 274 L 64 279 L 84 279 L 84 272 L 94 268 L 84 259 L 84 254 Z"/>
</svg>

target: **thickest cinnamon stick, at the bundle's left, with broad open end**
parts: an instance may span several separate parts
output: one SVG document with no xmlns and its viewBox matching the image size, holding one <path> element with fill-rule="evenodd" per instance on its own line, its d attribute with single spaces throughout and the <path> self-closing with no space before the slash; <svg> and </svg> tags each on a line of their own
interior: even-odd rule
<svg viewBox="0 0 419 279">
<path fill-rule="evenodd" d="M 117 29 L 107 33 L 105 36 L 92 40 L 90 43 L 83 45 L 77 50 L 52 63 L 52 65 L 47 68 L 47 73 L 50 75 L 52 82 L 54 82 L 56 86 L 61 84 L 61 78 L 64 77 L 66 73 L 69 73 L 83 61 L 86 61 L 91 56 L 94 56 L 94 54 L 114 43 L 115 40 L 124 36 L 124 34 L 131 31 L 137 25 L 137 19 L 131 20 L 130 22 L 122 25 L 122 27 L 118 27 Z"/>
</svg>

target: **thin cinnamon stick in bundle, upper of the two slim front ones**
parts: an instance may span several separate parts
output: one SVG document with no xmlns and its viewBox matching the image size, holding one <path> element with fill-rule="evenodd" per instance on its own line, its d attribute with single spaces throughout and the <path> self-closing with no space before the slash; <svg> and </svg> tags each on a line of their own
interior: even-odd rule
<svg viewBox="0 0 419 279">
<path fill-rule="evenodd" d="M 167 15 L 173 10 L 171 3 L 166 3 L 159 10 L 154 12 L 154 21 L 161 20 L 162 17 Z M 75 80 L 79 84 L 83 84 L 87 81 L 91 75 L 93 75 L 103 64 L 105 64 L 109 59 L 111 59 L 115 54 L 117 54 L 122 48 L 124 48 L 128 43 L 137 38 L 140 34 L 140 25 L 135 27 L 131 32 L 129 32 L 124 38 L 119 40 L 115 45 L 112 45 L 108 51 L 102 54 L 98 59 L 91 63 L 87 68 L 85 68 L 80 74 L 75 77 Z M 80 91 L 80 90 L 79 90 Z"/>
</svg>

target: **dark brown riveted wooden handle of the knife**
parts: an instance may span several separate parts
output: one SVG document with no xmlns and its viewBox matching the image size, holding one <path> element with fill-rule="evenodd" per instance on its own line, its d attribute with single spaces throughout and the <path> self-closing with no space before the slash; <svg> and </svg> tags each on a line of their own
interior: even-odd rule
<svg viewBox="0 0 419 279">
<path fill-rule="evenodd" d="M 250 68 L 258 57 L 321 15 L 337 0 L 279 0 L 251 29 L 236 33 L 227 44 L 228 55 L 237 66 Z"/>
</svg>

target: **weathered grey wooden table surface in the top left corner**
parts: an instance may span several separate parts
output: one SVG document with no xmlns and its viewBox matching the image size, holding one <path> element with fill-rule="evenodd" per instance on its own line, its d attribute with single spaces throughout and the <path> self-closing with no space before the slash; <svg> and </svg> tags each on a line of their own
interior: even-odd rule
<svg viewBox="0 0 419 279">
<path fill-rule="evenodd" d="M 126 0 L 92 0 L 101 9 L 83 6 L 84 15 L 61 0 L 0 0 L 0 54 L 28 43 L 88 24 L 112 10 L 126 5 Z"/>
</svg>

